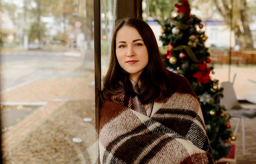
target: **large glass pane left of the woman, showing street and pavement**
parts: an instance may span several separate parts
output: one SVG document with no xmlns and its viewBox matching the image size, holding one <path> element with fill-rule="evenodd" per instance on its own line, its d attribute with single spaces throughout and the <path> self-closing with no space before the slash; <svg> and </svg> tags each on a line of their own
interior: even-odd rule
<svg viewBox="0 0 256 164">
<path fill-rule="evenodd" d="M 93 1 L 1 1 L 7 163 L 96 163 Z"/>
</svg>

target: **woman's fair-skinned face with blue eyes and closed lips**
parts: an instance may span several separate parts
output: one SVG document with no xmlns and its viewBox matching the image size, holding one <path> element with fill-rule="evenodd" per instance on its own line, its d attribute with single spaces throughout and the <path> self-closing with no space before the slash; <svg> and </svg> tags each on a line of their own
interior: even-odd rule
<svg viewBox="0 0 256 164">
<path fill-rule="evenodd" d="M 120 66 L 136 81 L 148 62 L 147 48 L 139 32 L 123 26 L 117 32 L 115 51 Z"/>
</svg>

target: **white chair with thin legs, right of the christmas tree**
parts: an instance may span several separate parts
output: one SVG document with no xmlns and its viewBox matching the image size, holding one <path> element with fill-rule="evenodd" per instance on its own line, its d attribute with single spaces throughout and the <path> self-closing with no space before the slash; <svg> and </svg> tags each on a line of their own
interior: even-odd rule
<svg viewBox="0 0 256 164">
<path fill-rule="evenodd" d="M 235 80 L 235 75 L 232 82 Z M 237 125 L 233 135 L 237 135 L 237 130 L 240 122 L 242 122 L 242 142 L 243 142 L 243 155 L 245 155 L 245 118 L 254 118 L 256 116 L 256 109 L 243 108 L 237 100 L 233 83 L 229 81 L 222 82 L 223 98 L 220 100 L 220 105 L 223 105 L 230 113 L 230 116 L 238 118 Z"/>
</svg>

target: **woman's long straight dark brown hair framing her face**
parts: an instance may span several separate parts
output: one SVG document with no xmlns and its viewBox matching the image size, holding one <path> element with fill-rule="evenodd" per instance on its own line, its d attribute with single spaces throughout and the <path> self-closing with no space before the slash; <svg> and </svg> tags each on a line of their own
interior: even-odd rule
<svg viewBox="0 0 256 164">
<path fill-rule="evenodd" d="M 148 63 L 136 82 L 136 86 L 138 86 L 139 81 L 141 82 L 141 86 L 138 88 L 139 99 L 142 103 L 151 103 L 156 99 L 164 99 L 169 96 L 171 93 L 170 79 L 160 57 L 157 41 L 152 29 L 141 19 L 124 18 L 116 22 L 112 33 L 110 64 L 104 78 L 102 98 L 110 99 L 110 96 L 113 94 L 119 94 L 123 91 L 130 93 L 131 96 L 136 94 L 133 91 L 129 73 L 119 65 L 115 51 L 117 32 L 123 26 L 135 28 L 147 47 Z"/>
</svg>

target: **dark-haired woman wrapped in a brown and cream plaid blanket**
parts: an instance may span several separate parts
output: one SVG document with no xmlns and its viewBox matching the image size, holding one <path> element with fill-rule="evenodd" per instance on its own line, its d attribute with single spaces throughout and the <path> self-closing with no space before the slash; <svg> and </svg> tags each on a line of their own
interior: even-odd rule
<svg viewBox="0 0 256 164">
<path fill-rule="evenodd" d="M 102 90 L 101 163 L 214 163 L 199 102 L 163 65 L 149 25 L 116 23 Z"/>
</svg>

